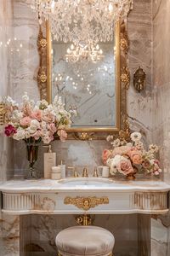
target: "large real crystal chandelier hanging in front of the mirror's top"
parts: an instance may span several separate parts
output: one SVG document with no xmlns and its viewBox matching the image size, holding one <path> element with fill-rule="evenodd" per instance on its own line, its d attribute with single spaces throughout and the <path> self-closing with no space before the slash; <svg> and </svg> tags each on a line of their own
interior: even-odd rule
<svg viewBox="0 0 170 256">
<path fill-rule="evenodd" d="M 32 0 L 38 19 L 49 20 L 54 39 L 77 44 L 113 40 L 115 21 L 126 18 L 133 0 Z"/>
</svg>

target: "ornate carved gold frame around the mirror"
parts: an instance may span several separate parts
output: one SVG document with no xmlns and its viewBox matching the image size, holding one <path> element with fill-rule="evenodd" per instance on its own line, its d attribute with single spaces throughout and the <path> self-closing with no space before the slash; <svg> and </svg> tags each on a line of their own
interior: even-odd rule
<svg viewBox="0 0 170 256">
<path fill-rule="evenodd" d="M 44 30 L 44 35 L 42 33 Z M 38 69 L 37 84 L 40 90 L 40 98 L 52 101 L 52 60 L 51 60 L 51 32 L 48 21 L 40 26 L 37 40 L 40 55 L 40 67 Z M 68 134 L 70 139 L 92 140 L 103 139 L 109 133 L 117 137 L 127 137 L 127 93 L 130 84 L 130 73 L 127 67 L 128 37 L 127 26 L 124 21 L 116 23 L 116 126 L 111 127 L 71 127 Z"/>
</svg>

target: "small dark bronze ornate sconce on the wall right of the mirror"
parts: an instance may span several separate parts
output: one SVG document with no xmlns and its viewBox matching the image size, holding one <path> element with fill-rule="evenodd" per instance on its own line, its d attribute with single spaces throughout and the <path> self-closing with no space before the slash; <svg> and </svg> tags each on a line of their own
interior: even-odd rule
<svg viewBox="0 0 170 256">
<path fill-rule="evenodd" d="M 133 74 L 133 86 L 136 90 L 141 92 L 146 85 L 146 73 L 144 69 L 139 67 Z"/>
</svg>

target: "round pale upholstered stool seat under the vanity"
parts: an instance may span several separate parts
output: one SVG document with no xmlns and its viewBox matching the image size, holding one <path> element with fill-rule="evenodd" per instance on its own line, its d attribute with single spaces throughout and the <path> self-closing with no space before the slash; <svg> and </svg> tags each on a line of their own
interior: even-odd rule
<svg viewBox="0 0 170 256">
<path fill-rule="evenodd" d="M 75 226 L 60 231 L 55 243 L 62 256 L 110 256 L 115 238 L 99 227 Z"/>
</svg>

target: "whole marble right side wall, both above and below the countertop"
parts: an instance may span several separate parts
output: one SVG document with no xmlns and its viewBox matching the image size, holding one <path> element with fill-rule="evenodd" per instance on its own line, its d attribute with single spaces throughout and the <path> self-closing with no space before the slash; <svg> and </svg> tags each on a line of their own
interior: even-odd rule
<svg viewBox="0 0 170 256">
<path fill-rule="evenodd" d="M 152 0 L 153 9 L 153 141 L 160 150 L 164 180 L 170 183 L 170 74 L 169 74 L 169 12 L 168 0 Z M 151 255 L 170 255 L 170 218 L 153 218 L 151 221 Z"/>
</svg>

